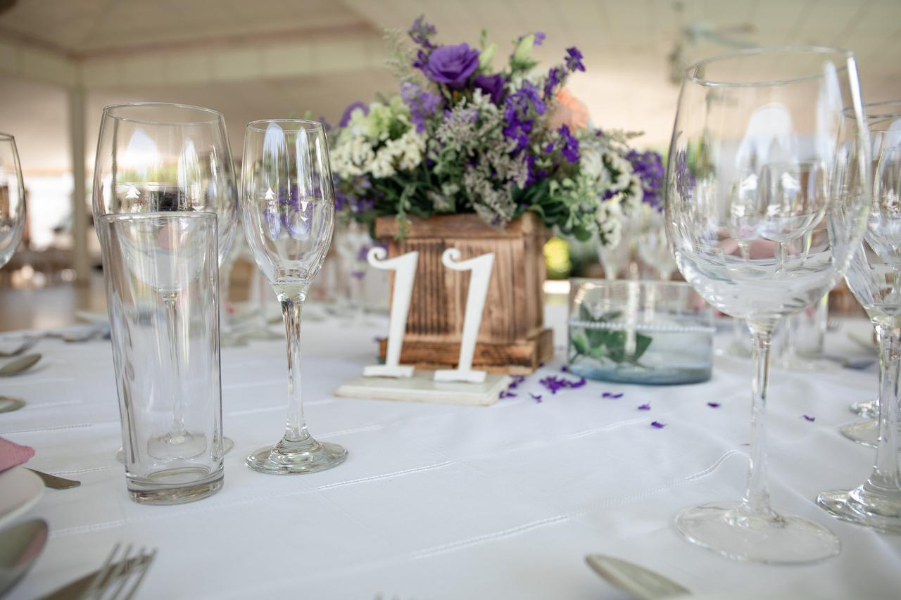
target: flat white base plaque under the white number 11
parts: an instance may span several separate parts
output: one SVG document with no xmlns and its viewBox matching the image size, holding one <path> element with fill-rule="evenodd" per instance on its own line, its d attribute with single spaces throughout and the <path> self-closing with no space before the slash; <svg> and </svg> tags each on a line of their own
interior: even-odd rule
<svg viewBox="0 0 901 600">
<path fill-rule="evenodd" d="M 488 373 L 482 383 L 434 381 L 432 371 L 417 370 L 409 379 L 357 377 L 335 390 L 346 398 L 428 402 L 441 405 L 487 406 L 497 402 L 513 379 Z"/>
</svg>

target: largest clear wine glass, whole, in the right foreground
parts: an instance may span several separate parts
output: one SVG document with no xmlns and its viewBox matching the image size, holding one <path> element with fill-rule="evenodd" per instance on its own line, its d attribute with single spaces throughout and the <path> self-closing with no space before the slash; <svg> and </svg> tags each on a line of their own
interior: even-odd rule
<svg viewBox="0 0 901 600">
<path fill-rule="evenodd" d="M 850 52 L 745 50 L 688 68 L 669 149 L 667 237 L 679 271 L 752 336 L 751 468 L 737 503 L 678 514 L 688 540 L 726 557 L 805 563 L 840 550 L 823 526 L 776 513 L 764 423 L 779 319 L 838 283 L 867 215 L 866 130 Z"/>
</svg>

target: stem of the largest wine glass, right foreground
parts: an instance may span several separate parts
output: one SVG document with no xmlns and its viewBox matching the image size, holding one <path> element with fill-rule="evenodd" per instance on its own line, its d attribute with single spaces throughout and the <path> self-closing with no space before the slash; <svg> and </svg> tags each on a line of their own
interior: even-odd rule
<svg viewBox="0 0 901 600">
<path fill-rule="evenodd" d="M 748 323 L 751 328 L 751 468 L 742 504 L 751 514 L 772 514 L 767 482 L 767 394 L 769 390 L 769 350 L 773 327 Z"/>
</svg>

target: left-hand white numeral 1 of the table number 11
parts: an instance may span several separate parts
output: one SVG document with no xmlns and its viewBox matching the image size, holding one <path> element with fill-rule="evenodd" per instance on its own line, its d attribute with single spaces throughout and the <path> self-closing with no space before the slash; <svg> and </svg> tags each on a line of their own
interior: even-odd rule
<svg viewBox="0 0 901 600">
<path fill-rule="evenodd" d="M 388 349 L 384 365 L 370 365 L 363 368 L 363 377 L 412 377 L 414 367 L 400 364 L 400 350 L 404 345 L 406 315 L 410 311 L 413 296 L 413 281 L 416 277 L 416 263 L 419 252 L 407 252 L 394 259 L 387 258 L 387 250 L 376 247 L 369 249 L 366 260 L 369 265 L 395 272 L 394 293 L 391 295 L 391 314 L 388 316 Z"/>
</svg>

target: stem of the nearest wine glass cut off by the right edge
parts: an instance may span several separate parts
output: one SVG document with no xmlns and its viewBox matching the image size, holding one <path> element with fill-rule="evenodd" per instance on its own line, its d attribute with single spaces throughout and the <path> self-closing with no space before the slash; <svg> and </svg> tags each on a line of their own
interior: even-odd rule
<svg viewBox="0 0 901 600">
<path fill-rule="evenodd" d="M 901 327 L 876 325 L 879 341 L 879 441 L 869 485 L 901 489 L 898 472 L 898 385 L 901 374 Z"/>
</svg>

